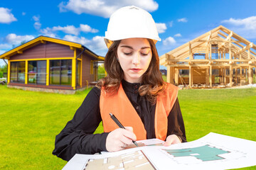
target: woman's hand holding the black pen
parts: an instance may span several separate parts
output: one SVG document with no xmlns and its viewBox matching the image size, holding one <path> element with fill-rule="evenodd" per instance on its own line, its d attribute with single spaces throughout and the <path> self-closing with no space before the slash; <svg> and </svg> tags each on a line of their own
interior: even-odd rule
<svg viewBox="0 0 256 170">
<path fill-rule="evenodd" d="M 132 140 L 136 141 L 136 139 L 132 127 L 118 128 L 107 135 L 106 149 L 108 152 L 119 151 L 131 145 Z"/>
</svg>

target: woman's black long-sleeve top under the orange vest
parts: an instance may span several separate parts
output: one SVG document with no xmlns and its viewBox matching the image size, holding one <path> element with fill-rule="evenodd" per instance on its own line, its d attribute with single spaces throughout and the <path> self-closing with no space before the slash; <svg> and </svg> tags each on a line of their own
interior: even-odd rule
<svg viewBox="0 0 256 170">
<path fill-rule="evenodd" d="M 132 84 L 122 80 L 122 86 L 132 106 L 134 106 L 139 117 L 142 119 L 142 123 L 144 123 L 146 138 L 156 138 L 154 130 L 156 104 L 151 105 L 146 100 L 146 96 L 139 95 L 138 89 L 140 84 Z M 95 154 L 97 152 L 107 151 L 106 139 L 108 133 L 93 134 L 101 121 L 100 89 L 94 87 L 87 94 L 73 119 L 56 136 L 53 154 L 69 161 L 75 154 Z M 182 142 L 186 142 L 185 127 L 178 98 L 168 116 L 166 137 L 173 134 L 180 137 Z"/>
</svg>

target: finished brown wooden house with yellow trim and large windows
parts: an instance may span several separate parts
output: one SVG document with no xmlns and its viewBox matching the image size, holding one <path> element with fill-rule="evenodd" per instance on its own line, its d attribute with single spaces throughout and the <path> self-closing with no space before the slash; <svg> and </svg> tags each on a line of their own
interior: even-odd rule
<svg viewBox="0 0 256 170">
<path fill-rule="evenodd" d="M 5 52 L 0 59 L 8 60 L 7 86 L 53 92 L 75 92 L 97 81 L 97 63 L 104 61 L 79 43 L 45 36 Z"/>
</svg>

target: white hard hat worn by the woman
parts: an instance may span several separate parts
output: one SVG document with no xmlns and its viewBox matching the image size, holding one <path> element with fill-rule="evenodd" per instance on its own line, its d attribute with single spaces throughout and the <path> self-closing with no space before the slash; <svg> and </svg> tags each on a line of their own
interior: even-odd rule
<svg viewBox="0 0 256 170">
<path fill-rule="evenodd" d="M 119 8 L 110 16 L 105 32 L 107 47 L 110 47 L 114 40 L 126 38 L 149 38 L 155 43 L 161 41 L 151 14 L 137 6 Z"/>
</svg>

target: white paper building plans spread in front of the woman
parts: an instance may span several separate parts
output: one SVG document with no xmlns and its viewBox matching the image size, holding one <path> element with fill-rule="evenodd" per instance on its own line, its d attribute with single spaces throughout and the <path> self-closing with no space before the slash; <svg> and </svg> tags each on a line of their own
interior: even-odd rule
<svg viewBox="0 0 256 170">
<path fill-rule="evenodd" d="M 149 146 L 97 155 L 75 154 L 63 169 L 237 169 L 256 165 L 256 142 L 213 132 L 170 147 L 154 146 L 163 142 L 155 139 L 137 142 Z"/>
</svg>

